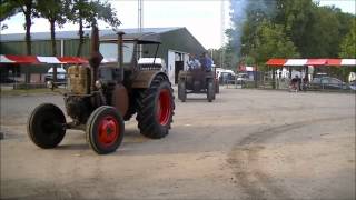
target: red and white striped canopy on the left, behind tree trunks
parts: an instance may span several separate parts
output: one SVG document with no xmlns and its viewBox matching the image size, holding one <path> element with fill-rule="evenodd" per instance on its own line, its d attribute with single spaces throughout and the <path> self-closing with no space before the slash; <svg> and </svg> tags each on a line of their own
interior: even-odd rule
<svg viewBox="0 0 356 200">
<path fill-rule="evenodd" d="M 0 54 L 0 63 L 26 63 L 26 64 L 46 64 L 46 63 L 88 63 L 88 60 L 80 57 L 37 57 L 37 56 L 12 56 Z"/>
</svg>

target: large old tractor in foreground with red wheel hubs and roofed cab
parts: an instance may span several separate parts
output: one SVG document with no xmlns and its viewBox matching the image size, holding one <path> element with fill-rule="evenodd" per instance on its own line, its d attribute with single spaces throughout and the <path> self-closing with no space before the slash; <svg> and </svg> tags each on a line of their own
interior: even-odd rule
<svg viewBox="0 0 356 200">
<path fill-rule="evenodd" d="M 175 110 L 171 84 L 165 72 L 155 68 L 142 70 L 137 64 L 141 49 L 148 44 L 156 47 L 156 58 L 158 34 L 119 32 L 113 38 L 102 38 L 99 44 L 95 27 L 91 40 L 90 67 L 68 69 L 65 104 L 72 121 L 67 122 L 61 109 L 52 103 L 38 106 L 28 120 L 33 143 L 43 149 L 56 148 L 67 129 L 80 129 L 86 131 L 93 151 L 110 153 L 122 141 L 123 120 L 135 113 L 141 134 L 151 139 L 167 136 Z"/>
</svg>

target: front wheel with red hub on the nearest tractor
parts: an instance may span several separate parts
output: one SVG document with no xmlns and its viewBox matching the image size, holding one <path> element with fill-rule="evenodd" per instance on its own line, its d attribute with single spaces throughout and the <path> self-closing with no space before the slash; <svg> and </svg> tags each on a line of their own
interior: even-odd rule
<svg viewBox="0 0 356 200">
<path fill-rule="evenodd" d="M 113 152 L 121 144 L 125 124 L 113 107 L 99 107 L 87 121 L 87 140 L 98 154 Z"/>
</svg>

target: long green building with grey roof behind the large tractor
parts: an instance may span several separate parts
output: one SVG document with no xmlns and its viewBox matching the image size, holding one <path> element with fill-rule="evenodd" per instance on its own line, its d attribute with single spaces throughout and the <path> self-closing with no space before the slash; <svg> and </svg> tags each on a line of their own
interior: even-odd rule
<svg viewBox="0 0 356 200">
<path fill-rule="evenodd" d="M 137 33 L 138 29 L 122 29 L 125 33 Z M 162 43 L 157 52 L 158 58 L 162 58 L 167 63 L 167 71 L 171 82 L 177 82 L 179 70 L 185 69 L 189 53 L 200 54 L 206 49 L 186 28 L 144 28 L 142 32 L 154 32 L 160 36 Z M 112 30 L 101 30 L 100 38 L 112 36 Z M 82 48 L 82 57 L 88 57 L 90 51 L 90 30 L 85 31 L 86 41 Z M 32 54 L 33 56 L 51 56 L 50 32 L 31 33 Z M 59 57 L 77 54 L 79 44 L 78 31 L 58 31 L 56 32 L 57 52 Z M 0 54 L 26 54 L 24 33 L 1 34 L 0 37 Z M 151 54 L 142 53 L 142 57 L 151 57 Z M 36 78 L 36 74 L 43 74 L 50 66 L 2 66 L 1 74 L 9 76 L 17 71 L 22 74 L 26 70 L 30 70 L 33 76 L 31 80 L 37 82 L 42 80 Z M 7 70 L 7 71 L 3 71 Z M 40 76 L 41 77 L 41 76 Z"/>
</svg>

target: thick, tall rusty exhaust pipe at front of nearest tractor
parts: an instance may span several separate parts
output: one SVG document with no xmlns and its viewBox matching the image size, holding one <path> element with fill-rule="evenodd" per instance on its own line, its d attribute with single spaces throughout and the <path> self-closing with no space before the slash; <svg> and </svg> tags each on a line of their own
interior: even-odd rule
<svg viewBox="0 0 356 200">
<path fill-rule="evenodd" d="M 91 91 L 96 90 L 96 81 L 98 80 L 98 68 L 102 59 L 103 57 L 99 51 L 99 29 L 97 23 L 93 22 L 91 29 L 91 49 L 89 58 L 89 64 L 91 67 Z"/>
</svg>

